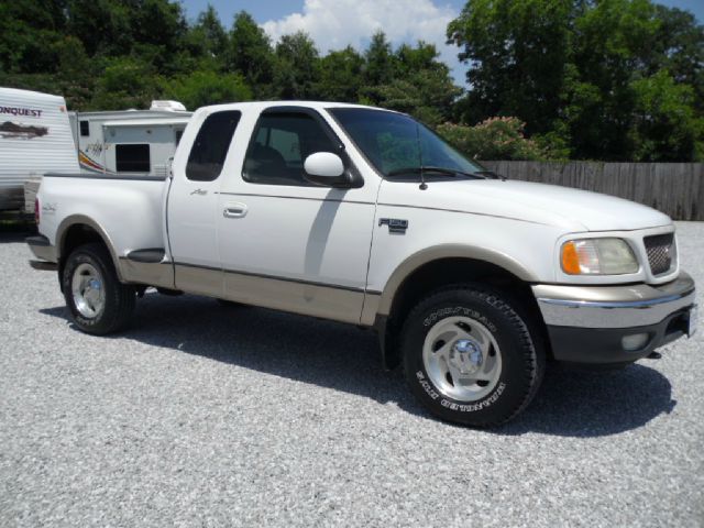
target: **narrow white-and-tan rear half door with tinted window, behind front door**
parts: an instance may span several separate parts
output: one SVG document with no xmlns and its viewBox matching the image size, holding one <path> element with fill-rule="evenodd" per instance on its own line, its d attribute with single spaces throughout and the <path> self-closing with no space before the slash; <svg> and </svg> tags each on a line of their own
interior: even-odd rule
<svg viewBox="0 0 704 528">
<path fill-rule="evenodd" d="M 191 146 L 174 161 L 167 219 L 176 287 L 221 297 L 222 266 L 218 248 L 221 173 L 241 112 L 224 110 L 205 117 Z M 182 142 L 188 144 L 188 138 Z"/>
</svg>

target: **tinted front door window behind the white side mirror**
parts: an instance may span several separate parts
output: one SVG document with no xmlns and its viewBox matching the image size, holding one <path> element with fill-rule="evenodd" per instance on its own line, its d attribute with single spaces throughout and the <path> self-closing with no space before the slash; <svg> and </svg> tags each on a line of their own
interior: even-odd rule
<svg viewBox="0 0 704 528">
<path fill-rule="evenodd" d="M 252 184 L 310 186 L 304 162 L 316 152 L 337 152 L 320 124 L 307 113 L 260 117 L 244 158 L 242 177 Z"/>
</svg>

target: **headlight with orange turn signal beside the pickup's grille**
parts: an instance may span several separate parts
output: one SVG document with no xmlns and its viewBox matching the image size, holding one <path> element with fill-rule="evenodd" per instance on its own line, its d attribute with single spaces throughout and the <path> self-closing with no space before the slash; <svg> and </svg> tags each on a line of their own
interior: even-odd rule
<svg viewBox="0 0 704 528">
<path fill-rule="evenodd" d="M 622 239 L 581 239 L 562 244 L 562 271 L 569 275 L 624 275 L 638 271 L 632 250 Z"/>
</svg>

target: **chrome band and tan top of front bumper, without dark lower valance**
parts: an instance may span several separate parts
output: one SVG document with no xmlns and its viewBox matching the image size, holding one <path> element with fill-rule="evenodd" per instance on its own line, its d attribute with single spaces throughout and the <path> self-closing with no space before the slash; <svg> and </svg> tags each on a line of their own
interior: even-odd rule
<svg viewBox="0 0 704 528">
<path fill-rule="evenodd" d="M 646 327 L 694 304 L 694 280 L 686 273 L 650 286 L 532 286 L 548 326 L 578 328 Z"/>
</svg>

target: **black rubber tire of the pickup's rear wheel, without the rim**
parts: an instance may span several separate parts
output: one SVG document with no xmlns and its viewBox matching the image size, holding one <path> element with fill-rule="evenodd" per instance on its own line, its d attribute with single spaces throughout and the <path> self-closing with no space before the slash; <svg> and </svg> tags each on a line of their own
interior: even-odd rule
<svg viewBox="0 0 704 528">
<path fill-rule="evenodd" d="M 81 264 L 91 265 L 100 275 L 105 302 L 94 317 L 81 314 L 72 290 L 74 274 Z M 62 274 L 62 289 L 74 323 L 84 332 L 105 336 L 127 326 L 136 299 L 134 286 L 120 283 L 110 253 L 105 245 L 85 244 L 68 255 Z"/>
</svg>

